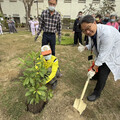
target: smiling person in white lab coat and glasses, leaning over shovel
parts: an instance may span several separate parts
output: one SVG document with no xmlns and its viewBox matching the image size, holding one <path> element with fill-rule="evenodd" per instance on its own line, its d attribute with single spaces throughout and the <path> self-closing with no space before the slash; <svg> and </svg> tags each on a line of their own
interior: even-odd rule
<svg viewBox="0 0 120 120">
<path fill-rule="evenodd" d="M 81 29 L 89 36 L 89 44 L 79 46 L 78 50 L 92 50 L 96 56 L 88 77 L 97 78 L 97 83 L 93 93 L 87 97 L 89 101 L 95 101 L 100 97 L 110 71 L 115 81 L 120 79 L 120 33 L 114 27 L 96 24 L 91 15 L 81 20 Z"/>
</svg>

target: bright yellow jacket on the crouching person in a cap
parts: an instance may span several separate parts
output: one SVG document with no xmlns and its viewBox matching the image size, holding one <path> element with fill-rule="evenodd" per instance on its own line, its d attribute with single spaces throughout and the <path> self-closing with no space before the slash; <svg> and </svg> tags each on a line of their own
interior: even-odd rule
<svg viewBox="0 0 120 120">
<path fill-rule="evenodd" d="M 51 56 L 51 59 L 50 60 L 45 60 L 45 58 L 43 57 L 43 55 L 40 55 L 40 58 L 43 59 L 44 61 L 44 66 L 46 69 L 48 68 L 52 68 L 52 72 L 51 74 L 48 76 L 48 80 L 46 81 L 46 83 L 50 82 L 55 76 L 56 76 L 56 73 L 57 73 L 57 70 L 58 70 L 58 59 L 55 57 L 55 56 Z"/>
</svg>

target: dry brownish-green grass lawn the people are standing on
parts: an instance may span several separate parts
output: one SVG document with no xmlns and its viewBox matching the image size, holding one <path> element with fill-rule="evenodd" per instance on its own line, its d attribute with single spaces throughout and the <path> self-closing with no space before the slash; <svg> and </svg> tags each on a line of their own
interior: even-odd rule
<svg viewBox="0 0 120 120">
<path fill-rule="evenodd" d="M 66 34 L 69 34 L 66 35 Z M 115 82 L 110 74 L 101 98 L 95 102 L 86 100 L 96 84 L 90 81 L 84 102 L 86 110 L 81 116 L 72 107 L 79 98 L 87 80 L 88 51 L 79 53 L 73 47 L 73 33 L 63 31 L 61 45 L 56 45 L 56 57 L 63 76 L 58 79 L 54 97 L 39 114 L 26 111 L 25 88 L 19 81 L 21 69 L 19 57 L 31 51 L 39 51 L 41 37 L 34 42 L 28 31 L 0 36 L 0 120 L 119 120 L 120 119 L 120 81 Z"/>
</svg>

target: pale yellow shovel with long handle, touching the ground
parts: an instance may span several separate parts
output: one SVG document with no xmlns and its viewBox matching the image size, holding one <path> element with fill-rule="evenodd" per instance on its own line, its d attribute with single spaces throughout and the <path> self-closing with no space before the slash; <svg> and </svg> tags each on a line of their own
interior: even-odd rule
<svg viewBox="0 0 120 120">
<path fill-rule="evenodd" d="M 85 91 L 87 89 L 87 86 L 88 86 L 88 83 L 89 83 L 89 80 L 90 78 L 88 77 L 86 83 L 85 83 L 85 86 L 83 88 L 83 91 L 82 91 L 82 95 L 80 97 L 80 99 L 75 99 L 74 101 L 74 104 L 73 104 L 73 107 L 79 111 L 80 115 L 82 114 L 82 112 L 86 109 L 86 103 L 84 103 L 83 101 L 83 97 L 84 97 L 84 94 L 85 94 Z"/>
</svg>

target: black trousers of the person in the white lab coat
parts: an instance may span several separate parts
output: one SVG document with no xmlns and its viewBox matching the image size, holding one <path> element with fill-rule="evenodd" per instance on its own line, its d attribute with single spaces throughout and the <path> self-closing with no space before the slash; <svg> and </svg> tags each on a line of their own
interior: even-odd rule
<svg viewBox="0 0 120 120">
<path fill-rule="evenodd" d="M 98 73 L 96 73 L 95 76 L 93 77 L 93 79 L 97 79 L 97 83 L 96 83 L 94 91 L 98 95 L 101 94 L 106 84 L 106 80 L 108 78 L 109 73 L 110 73 L 110 69 L 105 63 L 103 63 L 103 65 L 98 68 Z"/>
</svg>

